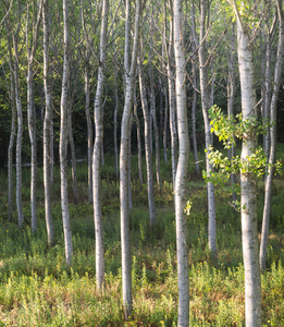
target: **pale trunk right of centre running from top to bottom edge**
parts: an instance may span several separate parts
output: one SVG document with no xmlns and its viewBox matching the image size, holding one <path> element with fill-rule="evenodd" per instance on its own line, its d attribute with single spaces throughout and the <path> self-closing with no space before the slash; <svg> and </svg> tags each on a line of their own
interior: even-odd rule
<svg viewBox="0 0 284 327">
<path fill-rule="evenodd" d="M 178 320 L 177 326 L 189 326 L 189 278 L 186 242 L 186 216 L 184 213 L 186 199 L 186 179 L 189 155 L 185 71 L 186 60 L 183 44 L 183 5 L 181 0 L 174 0 L 174 52 L 176 62 L 176 112 L 178 131 L 178 164 L 175 179 L 175 222 L 178 279 Z"/>
</svg>

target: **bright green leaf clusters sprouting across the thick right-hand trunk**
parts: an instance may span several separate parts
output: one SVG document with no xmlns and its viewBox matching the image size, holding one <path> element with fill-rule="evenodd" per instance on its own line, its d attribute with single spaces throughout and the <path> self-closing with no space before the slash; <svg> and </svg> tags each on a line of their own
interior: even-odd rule
<svg viewBox="0 0 284 327">
<path fill-rule="evenodd" d="M 244 120 L 242 113 L 237 114 L 235 119 L 231 119 L 217 106 L 213 106 L 209 110 L 209 116 L 211 119 L 211 133 L 214 133 L 219 137 L 225 149 L 230 149 L 232 146 L 235 147 L 236 138 L 246 142 L 250 133 L 257 135 L 264 134 L 269 126 L 269 123 L 259 123 L 256 118 Z M 224 157 L 223 153 L 214 150 L 213 147 L 210 147 L 208 150 L 206 149 L 208 158 L 217 171 L 209 171 L 208 173 L 203 171 L 203 179 L 215 185 L 224 185 L 232 173 L 252 173 L 257 178 L 262 177 L 268 173 L 268 167 L 272 166 L 268 165 L 268 158 L 261 146 L 252 150 L 250 156 L 247 156 L 245 160 L 240 160 L 239 156 L 232 158 Z M 277 161 L 273 168 L 275 169 L 275 174 L 277 174 L 282 170 L 282 164 Z"/>
</svg>

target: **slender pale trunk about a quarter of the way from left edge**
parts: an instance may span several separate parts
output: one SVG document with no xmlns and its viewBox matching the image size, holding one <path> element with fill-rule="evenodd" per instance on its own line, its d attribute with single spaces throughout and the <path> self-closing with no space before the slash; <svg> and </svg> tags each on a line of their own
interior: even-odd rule
<svg viewBox="0 0 284 327">
<path fill-rule="evenodd" d="M 69 63 L 69 1 L 63 0 L 63 25 L 64 25 L 64 58 L 63 58 L 63 76 L 62 76 L 62 93 L 60 104 L 60 175 L 61 175 L 61 207 L 63 219 L 63 231 L 65 242 L 65 257 L 66 264 L 71 265 L 73 254 L 72 232 L 70 225 L 69 211 L 69 194 L 67 194 L 67 96 L 69 96 L 69 78 L 70 78 L 70 63 Z"/>
</svg>

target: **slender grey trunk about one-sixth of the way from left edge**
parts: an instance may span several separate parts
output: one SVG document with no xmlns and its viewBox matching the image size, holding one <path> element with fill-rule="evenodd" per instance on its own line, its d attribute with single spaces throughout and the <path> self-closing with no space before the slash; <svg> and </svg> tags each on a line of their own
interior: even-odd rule
<svg viewBox="0 0 284 327">
<path fill-rule="evenodd" d="M 54 228 L 51 208 L 51 121 L 52 121 L 52 101 L 51 101 L 51 86 L 49 78 L 49 1 L 44 0 L 44 86 L 46 97 L 46 112 L 44 120 L 44 186 L 45 186 L 45 209 L 46 209 L 46 225 L 48 234 L 48 245 L 54 244 Z"/>
</svg>

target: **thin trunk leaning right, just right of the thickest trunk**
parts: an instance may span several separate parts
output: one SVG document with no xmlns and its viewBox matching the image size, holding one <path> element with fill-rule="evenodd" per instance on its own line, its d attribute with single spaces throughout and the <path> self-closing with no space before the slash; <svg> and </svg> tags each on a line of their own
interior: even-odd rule
<svg viewBox="0 0 284 327">
<path fill-rule="evenodd" d="M 279 45 L 277 45 L 277 56 L 276 63 L 274 68 L 274 81 L 273 81 L 273 90 L 272 98 L 270 101 L 270 156 L 269 156 L 269 167 L 268 175 L 266 179 L 266 193 L 264 193 L 264 208 L 262 217 L 262 230 L 261 230 L 261 243 L 260 243 L 260 268 L 263 271 L 267 266 L 267 244 L 269 235 L 269 221 L 271 215 L 271 192 L 273 183 L 273 165 L 276 159 L 276 106 L 277 97 L 280 89 L 280 78 L 281 78 L 281 69 L 282 69 L 282 53 L 284 47 L 284 22 L 283 22 L 283 10 L 282 10 L 282 0 L 277 0 L 277 13 L 279 13 Z"/>
</svg>

